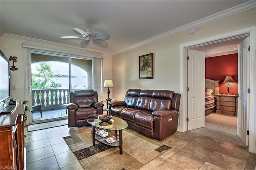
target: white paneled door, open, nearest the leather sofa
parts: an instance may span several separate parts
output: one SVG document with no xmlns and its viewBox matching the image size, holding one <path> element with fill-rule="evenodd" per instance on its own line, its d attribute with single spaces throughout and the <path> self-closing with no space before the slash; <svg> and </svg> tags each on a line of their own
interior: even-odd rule
<svg viewBox="0 0 256 170">
<path fill-rule="evenodd" d="M 188 49 L 188 130 L 204 127 L 205 54 Z"/>
</svg>

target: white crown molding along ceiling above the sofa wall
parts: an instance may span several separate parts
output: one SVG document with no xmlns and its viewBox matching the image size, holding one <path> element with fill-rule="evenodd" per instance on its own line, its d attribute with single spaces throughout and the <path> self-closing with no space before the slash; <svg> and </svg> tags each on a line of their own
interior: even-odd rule
<svg viewBox="0 0 256 170">
<path fill-rule="evenodd" d="M 202 18 L 202 19 L 197 20 L 195 22 L 191 22 L 190 24 L 186 24 L 186 25 L 181 26 L 179 28 L 176 28 L 174 30 L 170 30 L 170 31 L 165 32 L 163 34 L 160 34 L 158 36 L 154 36 L 154 37 L 149 38 L 147 40 L 144 40 L 142 42 L 135 43 L 134 45 L 130 45 L 130 46 L 126 47 L 126 48 L 123 48 L 123 49 L 121 49 L 119 51 L 116 51 L 116 52 L 112 53 L 112 55 L 115 55 L 115 54 L 118 54 L 118 53 L 122 53 L 124 51 L 130 50 L 130 49 L 134 49 L 136 47 L 140 47 L 142 45 L 154 42 L 156 40 L 160 40 L 162 38 L 166 38 L 168 36 L 172 36 L 174 34 L 178 34 L 180 32 L 187 31 L 187 30 L 189 30 L 192 27 L 202 26 L 202 25 L 207 24 L 209 22 L 213 22 L 213 21 L 219 20 L 221 18 L 230 16 L 230 15 L 233 15 L 233 14 L 237 14 L 239 12 L 242 12 L 242 11 L 245 11 L 245 10 L 249 10 L 251 8 L 254 8 L 254 7 L 256 7 L 256 1 L 255 0 L 251 0 L 249 2 L 246 2 L 244 4 L 235 6 L 233 8 L 228 9 L 228 10 L 224 10 L 222 12 L 218 12 L 218 13 L 213 14 L 211 16 L 208 16 L 206 18 Z"/>
</svg>

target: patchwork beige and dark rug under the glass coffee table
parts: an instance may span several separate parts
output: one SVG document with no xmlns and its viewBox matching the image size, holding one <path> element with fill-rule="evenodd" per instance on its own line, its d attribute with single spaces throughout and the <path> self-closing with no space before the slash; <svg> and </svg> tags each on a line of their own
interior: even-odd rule
<svg viewBox="0 0 256 170">
<path fill-rule="evenodd" d="M 135 170 L 170 149 L 158 140 L 137 132 L 123 130 L 123 154 L 119 147 L 106 146 L 98 141 L 92 146 L 92 127 L 70 129 L 71 136 L 64 137 L 84 169 Z"/>
</svg>

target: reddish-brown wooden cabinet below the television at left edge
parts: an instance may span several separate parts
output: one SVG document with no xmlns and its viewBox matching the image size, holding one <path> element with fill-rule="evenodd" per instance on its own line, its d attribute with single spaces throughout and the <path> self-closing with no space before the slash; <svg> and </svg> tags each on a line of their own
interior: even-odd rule
<svg viewBox="0 0 256 170">
<path fill-rule="evenodd" d="M 0 166 L 24 169 L 24 105 L 13 113 L 0 113 Z"/>
</svg>

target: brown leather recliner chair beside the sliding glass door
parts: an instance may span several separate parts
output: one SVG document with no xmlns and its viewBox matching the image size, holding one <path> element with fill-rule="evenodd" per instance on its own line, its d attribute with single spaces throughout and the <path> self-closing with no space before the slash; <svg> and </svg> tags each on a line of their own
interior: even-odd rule
<svg viewBox="0 0 256 170">
<path fill-rule="evenodd" d="M 98 93 L 94 90 L 78 90 L 70 93 L 68 109 L 68 127 L 87 126 L 87 117 L 103 114 L 104 104 L 98 102 Z"/>
</svg>

